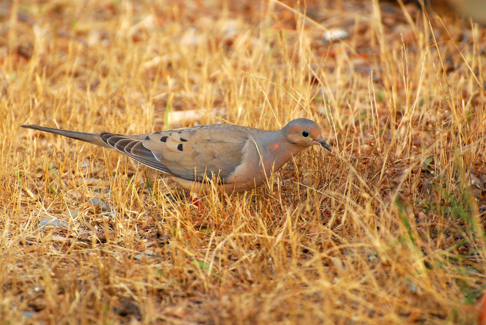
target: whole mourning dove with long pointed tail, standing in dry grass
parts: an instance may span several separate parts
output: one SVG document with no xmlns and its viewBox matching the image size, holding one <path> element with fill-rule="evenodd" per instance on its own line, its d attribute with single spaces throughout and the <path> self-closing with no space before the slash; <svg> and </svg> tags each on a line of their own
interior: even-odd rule
<svg viewBox="0 0 486 325">
<path fill-rule="evenodd" d="M 244 192 L 262 185 L 293 155 L 312 146 L 331 150 L 317 123 L 297 118 L 281 130 L 230 124 L 199 125 L 148 134 L 85 133 L 22 125 L 104 146 L 162 172 L 191 192 L 205 193 L 205 176 L 219 191 Z M 206 180 L 207 180 L 206 179 Z"/>
</svg>

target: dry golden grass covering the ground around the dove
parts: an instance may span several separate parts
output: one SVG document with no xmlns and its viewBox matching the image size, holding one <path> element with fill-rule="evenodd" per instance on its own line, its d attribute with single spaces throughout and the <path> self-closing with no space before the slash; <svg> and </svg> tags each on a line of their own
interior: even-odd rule
<svg viewBox="0 0 486 325">
<path fill-rule="evenodd" d="M 319 2 L 2 4 L 4 324 L 478 321 L 486 28 L 400 1 Z M 337 27 L 349 37 L 324 41 Z M 19 128 L 296 117 L 333 153 L 204 210 L 116 152 Z M 46 217 L 69 225 L 38 229 Z"/>
</svg>

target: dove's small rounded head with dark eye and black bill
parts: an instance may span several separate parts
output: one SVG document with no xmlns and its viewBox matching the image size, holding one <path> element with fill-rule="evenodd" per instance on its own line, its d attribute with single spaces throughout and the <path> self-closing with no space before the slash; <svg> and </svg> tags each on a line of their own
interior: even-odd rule
<svg viewBox="0 0 486 325">
<path fill-rule="evenodd" d="M 321 129 L 314 121 L 307 118 L 297 118 L 290 121 L 282 129 L 287 140 L 302 148 L 320 145 L 331 151 L 330 146 L 322 139 Z"/>
</svg>

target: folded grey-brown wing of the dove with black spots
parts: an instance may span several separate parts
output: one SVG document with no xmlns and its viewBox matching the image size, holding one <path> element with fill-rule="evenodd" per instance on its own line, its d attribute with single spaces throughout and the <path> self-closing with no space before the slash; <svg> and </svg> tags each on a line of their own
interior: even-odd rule
<svg viewBox="0 0 486 325">
<path fill-rule="evenodd" d="M 182 179 L 203 179 L 214 174 L 225 180 L 243 160 L 243 146 L 259 129 L 212 124 L 165 130 L 144 136 L 101 132 L 113 149 L 165 174 Z"/>
</svg>

